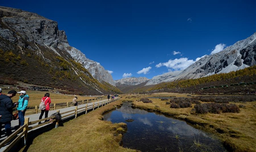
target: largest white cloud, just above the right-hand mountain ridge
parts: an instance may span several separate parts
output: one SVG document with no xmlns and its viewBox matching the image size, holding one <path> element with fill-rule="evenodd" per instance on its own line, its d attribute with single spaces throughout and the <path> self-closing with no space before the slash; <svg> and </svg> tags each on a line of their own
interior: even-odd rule
<svg viewBox="0 0 256 152">
<path fill-rule="evenodd" d="M 188 58 L 179 58 L 179 59 L 175 58 L 174 60 L 169 60 L 168 62 L 165 62 L 165 63 L 159 63 L 156 65 L 156 67 L 166 66 L 174 70 L 183 70 L 193 63 L 195 63 L 195 61 L 188 60 Z"/>
</svg>

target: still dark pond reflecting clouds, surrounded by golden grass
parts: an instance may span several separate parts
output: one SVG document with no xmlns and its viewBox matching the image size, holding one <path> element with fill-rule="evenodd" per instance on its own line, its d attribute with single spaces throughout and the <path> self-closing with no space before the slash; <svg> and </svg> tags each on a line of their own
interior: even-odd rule
<svg viewBox="0 0 256 152">
<path fill-rule="evenodd" d="M 128 119 L 134 121 L 125 121 Z M 210 134 L 181 120 L 133 109 L 131 102 L 106 113 L 104 120 L 126 123 L 128 130 L 122 146 L 142 152 L 226 152 L 221 142 Z"/>
</svg>

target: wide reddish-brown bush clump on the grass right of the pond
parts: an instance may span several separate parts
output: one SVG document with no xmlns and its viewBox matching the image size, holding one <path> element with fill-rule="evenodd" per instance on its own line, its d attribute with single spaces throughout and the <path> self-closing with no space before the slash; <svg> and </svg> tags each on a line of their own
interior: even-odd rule
<svg viewBox="0 0 256 152">
<path fill-rule="evenodd" d="M 239 113 L 240 109 L 235 104 L 204 103 L 195 105 L 195 113 Z"/>
</svg>

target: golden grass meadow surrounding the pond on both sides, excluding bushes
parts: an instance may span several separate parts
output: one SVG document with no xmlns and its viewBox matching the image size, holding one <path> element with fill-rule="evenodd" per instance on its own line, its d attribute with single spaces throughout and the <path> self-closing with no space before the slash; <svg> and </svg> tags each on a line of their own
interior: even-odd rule
<svg viewBox="0 0 256 152">
<path fill-rule="evenodd" d="M 135 107 L 158 111 L 164 115 L 185 120 L 197 129 L 215 134 L 229 151 L 256 152 L 256 101 L 242 103 L 245 108 L 240 108 L 239 113 L 220 114 L 192 113 L 191 110 L 195 104 L 188 108 L 170 108 L 170 104 L 166 104 L 166 101 L 162 101 L 160 98 L 150 98 L 152 103 L 140 101 L 142 97 L 170 97 L 172 95 L 121 95 L 120 100 L 114 103 L 70 120 L 64 123 L 63 127 L 52 129 L 37 136 L 32 145 L 28 145 L 28 152 L 136 152 L 136 150 L 120 146 L 122 133 L 118 130 L 120 127 L 125 128 L 123 123 L 112 124 L 102 121 L 102 115 L 106 111 L 114 109 L 123 101 L 133 101 Z M 175 94 L 174 96 L 187 97 L 187 95 L 182 94 Z M 20 152 L 22 151 L 23 149 L 20 150 Z"/>
</svg>

